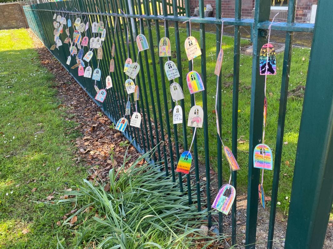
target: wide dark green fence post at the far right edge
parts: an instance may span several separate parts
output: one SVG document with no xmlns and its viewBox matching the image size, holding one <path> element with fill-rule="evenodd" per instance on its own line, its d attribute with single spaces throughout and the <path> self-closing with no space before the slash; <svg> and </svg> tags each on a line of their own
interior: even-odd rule
<svg viewBox="0 0 333 249">
<path fill-rule="evenodd" d="M 333 2 L 319 1 L 285 248 L 322 248 L 333 202 Z M 324 59 L 324 61 L 323 61 Z M 324 66 L 325 64 L 325 66 Z"/>
</svg>

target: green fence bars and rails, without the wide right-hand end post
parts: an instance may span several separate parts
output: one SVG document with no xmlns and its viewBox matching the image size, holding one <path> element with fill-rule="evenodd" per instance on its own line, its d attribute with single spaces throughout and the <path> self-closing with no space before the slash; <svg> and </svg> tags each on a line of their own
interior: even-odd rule
<svg viewBox="0 0 333 249">
<path fill-rule="evenodd" d="M 321 0 L 322 3 L 328 0 Z M 234 26 L 234 47 L 233 47 L 233 88 L 232 88 L 232 130 L 231 130 L 231 148 L 232 153 L 237 159 L 237 137 L 238 137 L 238 94 L 239 94 L 239 67 L 240 67 L 240 28 L 248 26 L 251 29 L 253 41 L 253 63 L 252 63 L 252 84 L 251 84 L 251 110 L 250 110 L 250 138 L 249 138 L 249 155 L 248 155 L 248 190 L 247 190 L 247 215 L 246 215 L 246 248 L 255 248 L 256 243 L 256 225 L 258 213 L 258 182 L 259 169 L 253 168 L 253 151 L 262 136 L 263 129 L 263 103 L 264 103 L 264 77 L 259 75 L 259 53 L 260 48 L 267 42 L 267 29 L 286 31 L 284 59 L 282 68 L 282 82 L 278 115 L 278 130 L 276 137 L 276 150 L 274 161 L 274 180 L 272 188 L 272 202 L 270 209 L 269 232 L 267 238 L 267 248 L 273 247 L 274 224 L 276 215 L 276 201 L 279 187 L 279 174 L 282 155 L 282 142 L 284 134 L 284 123 L 286 115 L 287 91 L 289 84 L 290 62 L 292 55 L 292 40 L 294 32 L 313 33 L 314 24 L 299 24 L 295 21 L 296 1 L 289 0 L 287 22 L 269 21 L 270 0 L 255 1 L 254 19 L 241 18 L 241 1 L 235 1 L 235 17 L 221 18 L 221 0 L 216 0 L 216 17 L 204 17 L 204 1 L 199 0 L 199 17 L 190 16 L 189 0 L 70 0 L 59 2 L 46 2 L 25 6 L 24 11 L 30 28 L 35 35 L 50 49 L 55 44 L 53 15 L 61 15 L 71 19 L 72 26 L 69 27 L 70 38 L 73 39 L 74 21 L 80 17 L 84 23 L 89 23 L 89 29 L 86 36 L 95 37 L 92 33 L 91 25 L 93 22 L 103 21 L 106 29 L 106 37 L 103 41 L 103 59 L 96 59 L 97 49 L 94 50 L 94 56 L 89 62 L 92 69 L 99 68 L 102 73 L 100 81 L 96 82 L 99 89 L 105 88 L 107 76 L 111 76 L 113 87 L 107 90 L 107 95 L 103 103 L 95 100 L 96 91 L 94 81 L 78 75 L 78 70 L 71 69 L 76 63 L 75 57 L 71 57 L 68 65 L 67 59 L 70 56 L 69 45 L 62 44 L 59 49 L 50 50 L 51 53 L 60 61 L 68 70 L 73 78 L 103 110 L 110 120 L 117 124 L 118 120 L 125 116 L 127 101 L 131 103 L 131 114 L 137 110 L 142 115 L 140 128 L 127 125 L 123 134 L 131 141 L 134 147 L 140 153 L 146 153 L 152 148 L 157 147 L 156 152 L 151 155 L 154 162 L 160 162 L 161 170 L 165 171 L 166 176 L 170 176 L 174 182 L 179 183 L 179 190 L 188 195 L 189 203 L 195 203 L 198 211 L 207 211 L 208 225 L 211 227 L 214 223 L 218 224 L 218 230 L 223 233 L 224 215 L 221 212 L 212 210 L 213 197 L 216 193 L 211 191 L 210 170 L 212 151 L 216 151 L 217 159 L 217 180 L 218 188 L 227 182 L 228 179 L 222 179 L 223 167 L 228 167 L 227 163 L 222 161 L 223 144 L 216 130 L 209 130 L 207 89 L 216 86 L 207 85 L 207 77 L 215 77 L 217 84 L 217 116 L 219 130 L 223 129 L 222 125 L 222 100 L 225 98 L 222 93 L 221 77 L 211 76 L 212 72 L 206 69 L 206 35 L 205 25 L 215 25 L 216 27 L 216 58 L 221 48 L 222 25 Z M 319 13 L 318 13 L 319 14 Z M 179 28 L 179 24 L 186 23 L 185 31 Z M 181 32 L 186 32 L 187 36 L 191 34 L 191 23 L 199 24 L 199 37 L 201 58 L 195 59 L 194 63 L 188 61 L 183 63 L 187 58 L 182 58 L 184 50 L 184 41 L 180 39 Z M 170 29 L 170 27 L 172 29 Z M 182 26 L 183 27 L 183 26 Z M 64 25 L 64 30 L 67 24 Z M 171 33 L 172 30 L 172 33 Z M 173 33 L 174 30 L 174 33 Z M 138 34 L 145 35 L 149 46 L 148 50 L 138 51 L 136 38 Z M 199 71 L 203 79 L 204 91 L 196 93 L 197 102 L 202 106 L 203 128 L 196 131 L 196 128 L 187 127 L 187 113 L 184 99 L 178 102 L 182 108 L 183 120 L 181 124 L 173 124 L 172 113 L 175 102 L 172 101 L 169 87 L 172 81 L 168 82 L 165 77 L 164 64 L 169 57 L 165 59 L 160 57 L 156 47 L 162 37 L 174 38 L 174 44 L 171 44 L 171 58 L 179 69 L 179 78 L 177 83 L 183 89 L 184 95 L 187 95 L 185 74 L 194 67 Z M 66 33 L 60 34 L 61 41 L 67 37 Z M 114 56 L 112 51 L 114 47 Z M 86 54 L 89 46 L 83 48 Z M 214 48 L 215 50 L 215 48 Z M 139 88 L 140 97 L 137 102 L 134 101 L 133 94 L 128 96 L 125 88 L 125 80 L 128 78 L 123 69 L 127 58 L 132 58 L 137 62 L 140 71 L 136 77 L 136 85 Z M 110 73 L 110 60 L 114 59 L 114 72 Z M 74 61 L 74 62 L 73 62 Z M 200 61 L 200 62 L 199 62 Z M 88 63 L 86 63 L 88 64 Z M 87 65 L 86 65 L 87 66 Z M 223 70 L 223 67 L 222 67 Z M 161 84 L 160 84 L 161 83 Z M 195 105 L 193 94 L 186 98 Z M 215 100 L 214 100 L 215 101 Z M 134 104 L 137 103 L 135 106 Z M 215 117 L 215 114 L 214 114 Z M 214 121 L 215 122 L 215 121 Z M 213 134 L 213 136 L 211 135 Z M 193 140 L 192 140 L 193 136 Z M 301 134 L 300 134 L 301 136 Z M 213 137 L 213 138 L 212 138 Z M 209 147 L 211 140 L 217 141 L 217 148 Z M 192 147 L 191 147 L 192 146 Z M 189 174 L 176 172 L 177 162 L 180 158 L 181 151 L 187 151 L 192 148 L 194 168 Z M 199 158 L 199 152 L 203 154 Z M 246 167 L 246 165 L 241 165 Z M 204 178 L 202 178 L 204 175 Z M 231 184 L 237 190 L 237 173 L 231 174 Z M 232 205 L 232 244 L 236 244 L 236 212 L 237 197 Z M 217 215 L 216 215 L 217 214 Z M 326 223 L 327 224 L 327 223 Z M 291 248 L 291 247 L 290 247 Z M 304 247 L 305 248 L 305 247 Z M 307 248 L 307 247 L 306 247 Z"/>
</svg>

